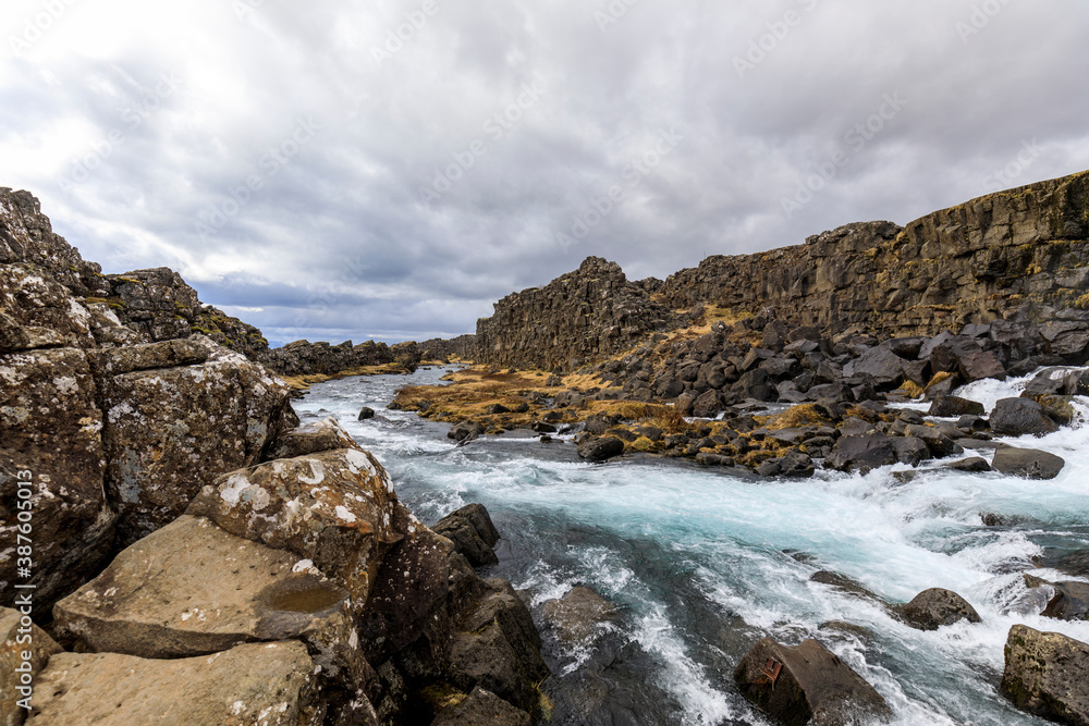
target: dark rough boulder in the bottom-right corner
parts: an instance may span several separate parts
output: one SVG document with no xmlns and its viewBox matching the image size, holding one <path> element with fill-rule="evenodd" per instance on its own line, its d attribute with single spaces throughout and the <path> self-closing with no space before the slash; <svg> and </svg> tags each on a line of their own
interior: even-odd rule
<svg viewBox="0 0 1089 726">
<path fill-rule="evenodd" d="M 1010 629 L 1001 690 L 1021 711 L 1089 724 L 1089 644 L 1024 625 Z"/>
</svg>

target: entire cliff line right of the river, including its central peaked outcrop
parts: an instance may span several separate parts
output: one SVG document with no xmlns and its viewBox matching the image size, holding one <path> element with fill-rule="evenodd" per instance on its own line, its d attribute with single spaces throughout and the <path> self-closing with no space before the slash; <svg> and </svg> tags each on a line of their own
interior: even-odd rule
<svg viewBox="0 0 1089 726">
<path fill-rule="evenodd" d="M 1089 172 L 1001 192 L 906 227 L 848 224 L 806 244 L 714 256 L 664 284 L 633 284 L 591 258 L 541 290 L 510 295 L 477 323 L 477 361 L 561 367 L 635 347 L 717 305 L 831 334 L 933 335 L 1007 320 L 1060 337 L 1089 307 Z M 1073 318 L 1072 318 L 1073 315 Z M 1072 341 L 1070 345 L 1080 342 Z M 1060 347 L 1063 347 L 1062 344 Z M 1061 354 L 1062 355 L 1062 354 Z"/>
</svg>

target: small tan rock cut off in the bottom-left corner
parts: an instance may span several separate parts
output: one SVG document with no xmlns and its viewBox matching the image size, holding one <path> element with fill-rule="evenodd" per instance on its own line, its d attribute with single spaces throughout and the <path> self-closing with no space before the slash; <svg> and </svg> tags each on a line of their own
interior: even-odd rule
<svg viewBox="0 0 1089 726">
<path fill-rule="evenodd" d="M 23 705 L 34 702 L 38 673 L 46 667 L 50 656 L 62 650 L 29 615 L 0 608 L 0 693 L 3 693 L 0 724 L 20 726 L 23 723 L 27 713 Z"/>
</svg>

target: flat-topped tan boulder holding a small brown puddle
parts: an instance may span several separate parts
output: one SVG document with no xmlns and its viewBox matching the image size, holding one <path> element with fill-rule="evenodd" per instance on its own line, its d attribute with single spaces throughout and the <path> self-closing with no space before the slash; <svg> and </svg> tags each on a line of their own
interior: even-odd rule
<svg viewBox="0 0 1089 726">
<path fill-rule="evenodd" d="M 302 640 L 323 675 L 365 684 L 348 593 L 308 561 L 182 516 L 123 551 L 53 607 L 59 633 L 93 652 L 176 659 Z"/>
</svg>

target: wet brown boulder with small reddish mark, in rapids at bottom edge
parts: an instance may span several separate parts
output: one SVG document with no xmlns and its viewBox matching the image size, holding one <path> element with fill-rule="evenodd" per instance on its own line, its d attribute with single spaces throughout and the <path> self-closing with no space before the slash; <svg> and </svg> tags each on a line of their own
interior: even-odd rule
<svg viewBox="0 0 1089 726">
<path fill-rule="evenodd" d="M 791 726 L 886 722 L 892 710 L 851 666 L 816 640 L 793 648 L 764 638 L 734 670 L 742 693 Z"/>
</svg>

